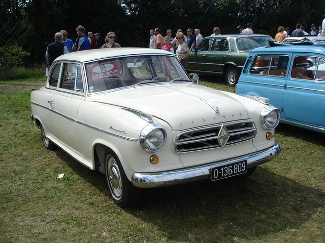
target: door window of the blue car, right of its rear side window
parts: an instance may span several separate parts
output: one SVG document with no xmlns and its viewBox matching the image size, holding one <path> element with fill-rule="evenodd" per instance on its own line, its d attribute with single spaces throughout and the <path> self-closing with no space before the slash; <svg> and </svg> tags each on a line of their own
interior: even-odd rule
<svg viewBox="0 0 325 243">
<path fill-rule="evenodd" d="M 313 80 L 318 58 L 298 56 L 295 57 L 293 68 L 291 69 L 291 78 Z"/>
</svg>

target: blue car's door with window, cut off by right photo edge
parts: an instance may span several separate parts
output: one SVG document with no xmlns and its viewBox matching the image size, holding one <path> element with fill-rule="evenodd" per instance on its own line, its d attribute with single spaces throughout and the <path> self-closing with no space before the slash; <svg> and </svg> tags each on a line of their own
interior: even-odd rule
<svg viewBox="0 0 325 243">
<path fill-rule="evenodd" d="M 325 127 L 325 58 L 294 54 L 283 93 L 285 119 Z"/>
</svg>

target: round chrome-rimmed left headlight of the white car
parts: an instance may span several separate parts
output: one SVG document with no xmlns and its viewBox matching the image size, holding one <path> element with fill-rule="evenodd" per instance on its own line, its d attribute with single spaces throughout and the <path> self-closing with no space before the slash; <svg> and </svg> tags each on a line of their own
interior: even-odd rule
<svg viewBox="0 0 325 243">
<path fill-rule="evenodd" d="M 155 152 L 164 147 L 166 131 L 157 124 L 148 124 L 140 133 L 140 145 L 149 152 Z"/>
</svg>

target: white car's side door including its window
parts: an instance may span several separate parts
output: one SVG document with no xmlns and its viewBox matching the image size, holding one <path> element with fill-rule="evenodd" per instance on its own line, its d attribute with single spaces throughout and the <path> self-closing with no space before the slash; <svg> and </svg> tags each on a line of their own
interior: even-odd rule
<svg viewBox="0 0 325 243">
<path fill-rule="evenodd" d="M 60 143 L 76 152 L 77 112 L 85 99 L 80 64 L 63 63 L 58 89 L 52 97 L 52 134 Z"/>
</svg>

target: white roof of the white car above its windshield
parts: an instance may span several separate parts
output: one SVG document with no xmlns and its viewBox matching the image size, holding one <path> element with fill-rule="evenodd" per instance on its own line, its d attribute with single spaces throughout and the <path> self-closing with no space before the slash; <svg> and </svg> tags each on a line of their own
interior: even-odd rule
<svg viewBox="0 0 325 243">
<path fill-rule="evenodd" d="M 87 62 L 103 58 L 112 58 L 128 55 L 157 55 L 157 54 L 167 54 L 175 56 L 171 52 L 159 50 L 159 49 L 149 49 L 149 48 L 102 48 L 93 49 L 87 51 L 78 51 L 64 54 L 55 59 L 55 61 L 76 61 L 76 62 Z"/>
</svg>

